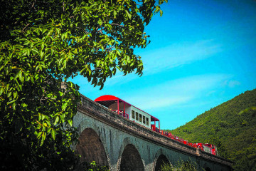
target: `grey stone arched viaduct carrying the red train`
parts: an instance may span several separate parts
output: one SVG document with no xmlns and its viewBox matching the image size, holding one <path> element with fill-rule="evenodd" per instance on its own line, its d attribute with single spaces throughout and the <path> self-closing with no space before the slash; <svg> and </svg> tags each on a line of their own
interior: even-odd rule
<svg viewBox="0 0 256 171">
<path fill-rule="evenodd" d="M 183 160 L 196 162 L 198 170 L 232 170 L 229 160 L 144 128 L 81 96 L 74 118 L 80 133 L 75 146 L 82 156 L 80 162 L 95 161 L 111 171 L 157 171 L 163 162 L 176 165 L 178 160 Z M 82 170 L 82 165 L 78 170 Z"/>
</svg>

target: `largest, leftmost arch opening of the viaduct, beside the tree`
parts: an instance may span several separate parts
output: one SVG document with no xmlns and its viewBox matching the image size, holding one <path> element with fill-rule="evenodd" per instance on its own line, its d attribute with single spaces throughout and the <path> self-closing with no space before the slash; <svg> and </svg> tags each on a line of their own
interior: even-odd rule
<svg viewBox="0 0 256 171">
<path fill-rule="evenodd" d="M 90 162 L 95 161 L 97 166 L 109 167 L 105 147 L 99 135 L 92 128 L 86 128 L 78 138 L 75 153 L 81 155 L 78 170 L 85 170 Z"/>
</svg>

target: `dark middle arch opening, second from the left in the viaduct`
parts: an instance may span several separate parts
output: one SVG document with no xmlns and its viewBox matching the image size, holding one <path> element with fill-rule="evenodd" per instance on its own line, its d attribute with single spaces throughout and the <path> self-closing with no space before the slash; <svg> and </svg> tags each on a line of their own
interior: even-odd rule
<svg viewBox="0 0 256 171">
<path fill-rule="evenodd" d="M 137 148 L 128 144 L 124 147 L 119 163 L 119 171 L 144 171 L 144 163 Z"/>
</svg>

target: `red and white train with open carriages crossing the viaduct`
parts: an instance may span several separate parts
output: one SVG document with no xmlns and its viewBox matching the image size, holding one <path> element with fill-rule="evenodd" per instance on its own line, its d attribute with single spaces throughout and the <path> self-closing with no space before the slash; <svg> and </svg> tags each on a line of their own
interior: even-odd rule
<svg viewBox="0 0 256 171">
<path fill-rule="evenodd" d="M 170 132 L 160 130 L 160 120 L 158 118 L 150 115 L 149 113 L 146 113 L 144 110 L 141 110 L 134 105 L 131 105 L 130 103 L 127 103 L 121 98 L 117 98 L 114 95 L 102 95 L 96 98 L 95 102 L 100 103 L 100 105 L 105 106 L 109 110 L 112 110 L 114 113 L 117 113 L 117 115 L 122 115 L 124 118 L 132 120 L 134 123 L 138 123 L 139 125 L 151 129 L 156 133 L 169 137 L 178 142 L 182 142 L 185 145 L 199 148 L 202 151 L 208 152 L 212 155 L 218 155 L 216 145 L 208 143 L 188 142 L 187 140 L 183 140 L 182 138 L 179 138 L 178 136 L 175 136 Z"/>
</svg>

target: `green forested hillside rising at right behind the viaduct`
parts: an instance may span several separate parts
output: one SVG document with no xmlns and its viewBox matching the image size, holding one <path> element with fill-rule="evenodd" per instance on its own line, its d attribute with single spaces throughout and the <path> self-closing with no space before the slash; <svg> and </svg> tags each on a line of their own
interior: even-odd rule
<svg viewBox="0 0 256 171">
<path fill-rule="evenodd" d="M 256 89 L 248 90 L 170 131 L 191 142 L 217 145 L 221 157 L 235 162 L 235 170 L 256 170 L 255 106 Z"/>
</svg>

